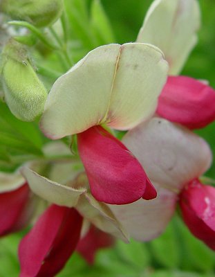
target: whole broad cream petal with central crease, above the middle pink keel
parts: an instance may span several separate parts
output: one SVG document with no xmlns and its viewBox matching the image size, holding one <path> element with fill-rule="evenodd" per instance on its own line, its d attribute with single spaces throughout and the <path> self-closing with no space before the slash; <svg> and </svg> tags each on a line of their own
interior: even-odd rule
<svg viewBox="0 0 215 277">
<path fill-rule="evenodd" d="M 154 46 L 100 46 L 55 82 L 41 129 L 59 139 L 102 123 L 133 127 L 155 111 L 167 67 Z"/>
</svg>

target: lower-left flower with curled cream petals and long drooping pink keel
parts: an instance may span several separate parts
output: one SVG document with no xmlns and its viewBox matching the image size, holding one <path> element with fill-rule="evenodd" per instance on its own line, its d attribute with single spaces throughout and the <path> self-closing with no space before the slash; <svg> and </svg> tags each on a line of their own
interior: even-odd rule
<svg viewBox="0 0 215 277">
<path fill-rule="evenodd" d="M 127 234 L 110 208 L 97 202 L 88 192 L 85 174 L 62 185 L 27 167 L 22 168 L 21 172 L 31 190 L 47 200 L 50 206 L 19 244 L 20 276 L 54 276 L 64 267 L 76 247 L 88 262 L 93 262 L 93 256 L 86 254 L 86 245 L 80 240 L 82 229 L 85 229 L 84 220 L 128 242 Z M 79 241 L 82 244 L 78 244 Z M 102 247 L 100 242 L 97 243 L 88 245 L 96 251 Z"/>
</svg>

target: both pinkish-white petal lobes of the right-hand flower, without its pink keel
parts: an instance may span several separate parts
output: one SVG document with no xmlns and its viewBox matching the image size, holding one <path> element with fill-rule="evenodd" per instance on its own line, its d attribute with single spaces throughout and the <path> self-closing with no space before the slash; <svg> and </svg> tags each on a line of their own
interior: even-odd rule
<svg viewBox="0 0 215 277">
<path fill-rule="evenodd" d="M 130 130 L 123 143 L 145 168 L 158 196 L 110 208 L 131 237 L 152 240 L 174 215 L 181 190 L 209 168 L 212 154 L 189 129 L 158 117 Z"/>
</svg>

